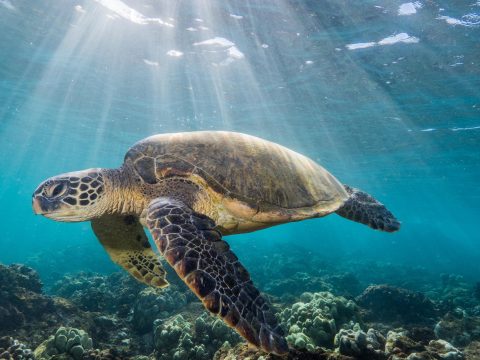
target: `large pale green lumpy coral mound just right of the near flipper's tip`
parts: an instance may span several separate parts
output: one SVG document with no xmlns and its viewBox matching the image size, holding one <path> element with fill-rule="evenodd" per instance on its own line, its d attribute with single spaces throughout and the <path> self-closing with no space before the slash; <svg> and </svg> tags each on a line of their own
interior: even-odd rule
<svg viewBox="0 0 480 360">
<path fill-rule="evenodd" d="M 298 349 L 312 351 L 333 345 L 337 328 L 355 318 L 357 312 L 353 301 L 329 292 L 304 293 L 300 300 L 280 313 L 288 329 L 287 341 Z"/>
</svg>

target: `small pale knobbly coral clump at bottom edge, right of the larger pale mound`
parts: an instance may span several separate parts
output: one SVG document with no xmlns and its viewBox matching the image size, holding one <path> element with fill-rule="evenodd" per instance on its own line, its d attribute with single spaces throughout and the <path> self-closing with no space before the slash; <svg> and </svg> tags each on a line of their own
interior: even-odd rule
<svg viewBox="0 0 480 360">
<path fill-rule="evenodd" d="M 360 359 L 386 359 L 385 337 L 374 329 L 367 333 L 360 329 L 358 324 L 353 330 L 342 329 L 335 335 L 335 351 L 342 355 L 354 356 Z"/>
</svg>

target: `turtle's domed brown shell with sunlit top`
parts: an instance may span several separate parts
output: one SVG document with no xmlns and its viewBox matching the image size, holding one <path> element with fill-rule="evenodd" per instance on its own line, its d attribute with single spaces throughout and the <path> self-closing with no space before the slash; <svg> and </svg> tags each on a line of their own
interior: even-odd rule
<svg viewBox="0 0 480 360">
<path fill-rule="evenodd" d="M 252 205 L 295 209 L 338 203 L 338 208 L 348 198 L 338 180 L 313 160 L 234 132 L 154 135 L 135 144 L 125 163 L 149 184 L 198 175 L 218 193 Z"/>
</svg>

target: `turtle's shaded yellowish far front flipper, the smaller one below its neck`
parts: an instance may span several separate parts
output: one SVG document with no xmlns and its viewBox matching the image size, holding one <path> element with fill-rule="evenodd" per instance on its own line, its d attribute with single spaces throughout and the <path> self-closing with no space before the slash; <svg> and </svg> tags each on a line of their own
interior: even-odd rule
<svg viewBox="0 0 480 360">
<path fill-rule="evenodd" d="M 166 272 L 137 218 L 104 215 L 92 220 L 92 229 L 113 262 L 133 277 L 153 287 L 168 286 Z"/>
</svg>

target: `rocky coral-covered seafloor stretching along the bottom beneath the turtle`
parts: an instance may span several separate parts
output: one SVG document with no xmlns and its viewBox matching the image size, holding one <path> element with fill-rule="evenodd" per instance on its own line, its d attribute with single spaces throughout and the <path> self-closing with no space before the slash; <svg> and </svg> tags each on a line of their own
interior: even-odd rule
<svg viewBox="0 0 480 360">
<path fill-rule="evenodd" d="M 480 283 L 294 255 L 247 264 L 287 333 L 285 359 L 480 360 Z M 157 290 L 120 271 L 77 272 L 43 285 L 31 267 L 0 264 L 0 359 L 281 359 L 169 280 Z"/>
</svg>

